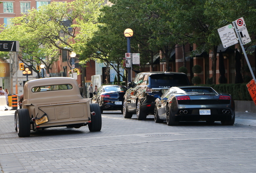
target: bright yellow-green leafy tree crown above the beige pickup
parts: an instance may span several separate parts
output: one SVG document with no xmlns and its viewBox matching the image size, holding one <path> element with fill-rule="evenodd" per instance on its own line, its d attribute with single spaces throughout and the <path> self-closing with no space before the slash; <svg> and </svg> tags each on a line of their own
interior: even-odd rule
<svg viewBox="0 0 256 173">
<path fill-rule="evenodd" d="M 12 29 L 22 30 L 15 36 L 22 37 L 20 45 L 24 45 L 22 52 L 25 64 L 33 66 L 40 62 L 46 65 L 49 72 L 51 62 L 58 58 L 57 49 L 76 52 L 75 48 L 83 46 L 96 29 L 97 16 L 101 8 L 99 4 L 103 4 L 103 0 L 87 1 L 87 3 L 83 0 L 70 3 L 52 2 L 41 6 L 38 10 L 32 9 L 26 15 L 13 18 L 12 22 L 15 26 Z M 9 30 L 9 32 L 15 31 Z M 26 47 L 29 50 L 26 50 Z M 80 53 L 77 51 L 77 56 Z M 50 62 L 45 61 L 43 59 L 45 57 L 48 57 Z M 35 69 L 35 66 L 33 67 Z"/>
</svg>

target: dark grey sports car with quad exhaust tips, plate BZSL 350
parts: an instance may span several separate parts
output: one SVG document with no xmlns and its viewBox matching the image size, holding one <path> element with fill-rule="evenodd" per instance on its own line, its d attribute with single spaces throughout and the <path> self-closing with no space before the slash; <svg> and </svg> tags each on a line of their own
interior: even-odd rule
<svg viewBox="0 0 256 173">
<path fill-rule="evenodd" d="M 155 100 L 155 122 L 166 120 L 167 125 L 180 121 L 235 122 L 235 103 L 231 95 L 219 93 L 211 87 L 172 87 Z"/>
</svg>

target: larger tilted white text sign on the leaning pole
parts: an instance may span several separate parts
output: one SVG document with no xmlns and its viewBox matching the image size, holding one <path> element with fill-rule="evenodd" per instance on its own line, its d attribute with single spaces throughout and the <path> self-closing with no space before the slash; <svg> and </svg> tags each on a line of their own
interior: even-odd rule
<svg viewBox="0 0 256 173">
<path fill-rule="evenodd" d="M 224 48 L 238 43 L 232 24 L 228 24 L 226 26 L 223 26 L 222 28 L 219 28 L 218 32 Z"/>
</svg>

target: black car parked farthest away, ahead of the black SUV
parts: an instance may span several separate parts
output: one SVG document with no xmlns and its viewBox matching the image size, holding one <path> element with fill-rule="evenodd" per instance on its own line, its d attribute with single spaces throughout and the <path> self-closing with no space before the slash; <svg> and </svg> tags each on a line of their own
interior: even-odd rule
<svg viewBox="0 0 256 173">
<path fill-rule="evenodd" d="M 92 103 L 99 103 L 103 110 L 123 111 L 123 98 L 127 88 L 122 85 L 102 85 L 92 98 Z"/>
</svg>

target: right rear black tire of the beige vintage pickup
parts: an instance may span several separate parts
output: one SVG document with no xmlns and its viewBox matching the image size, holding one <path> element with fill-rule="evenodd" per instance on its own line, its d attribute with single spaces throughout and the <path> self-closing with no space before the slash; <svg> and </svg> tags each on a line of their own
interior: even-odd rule
<svg viewBox="0 0 256 173">
<path fill-rule="evenodd" d="M 89 131 L 101 131 L 101 109 L 99 104 L 90 104 L 90 111 L 95 112 L 95 115 L 91 115 L 91 123 L 88 124 Z"/>
</svg>

